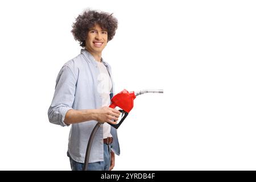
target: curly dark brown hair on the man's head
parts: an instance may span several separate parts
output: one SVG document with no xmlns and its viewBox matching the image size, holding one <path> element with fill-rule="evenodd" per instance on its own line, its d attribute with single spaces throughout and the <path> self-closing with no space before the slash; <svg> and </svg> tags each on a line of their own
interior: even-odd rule
<svg viewBox="0 0 256 182">
<path fill-rule="evenodd" d="M 113 14 L 113 13 L 112 13 Z M 75 40 L 80 42 L 81 47 L 85 47 L 85 40 L 90 28 L 99 24 L 102 29 L 108 31 L 108 42 L 112 40 L 117 30 L 117 19 L 112 14 L 102 11 L 85 10 L 84 13 L 77 16 L 76 22 L 73 23 L 71 30 Z"/>
</svg>

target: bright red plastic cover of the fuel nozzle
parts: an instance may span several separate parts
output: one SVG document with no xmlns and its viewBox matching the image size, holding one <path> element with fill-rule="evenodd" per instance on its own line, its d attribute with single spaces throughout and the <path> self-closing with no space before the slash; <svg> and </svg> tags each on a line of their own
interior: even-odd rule
<svg viewBox="0 0 256 182">
<path fill-rule="evenodd" d="M 116 106 L 120 107 L 122 110 L 127 113 L 133 109 L 133 100 L 136 98 L 134 92 L 128 92 L 126 89 L 123 89 L 122 92 L 115 94 L 115 96 L 111 100 L 111 104 L 109 107 L 115 108 Z"/>
</svg>

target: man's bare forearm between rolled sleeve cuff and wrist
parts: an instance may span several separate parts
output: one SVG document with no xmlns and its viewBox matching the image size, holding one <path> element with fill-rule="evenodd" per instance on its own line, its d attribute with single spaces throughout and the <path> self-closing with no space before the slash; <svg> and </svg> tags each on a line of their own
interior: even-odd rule
<svg viewBox="0 0 256 182">
<path fill-rule="evenodd" d="M 65 115 L 64 122 L 66 124 L 73 124 L 90 120 L 96 120 L 96 109 L 70 109 Z"/>
</svg>

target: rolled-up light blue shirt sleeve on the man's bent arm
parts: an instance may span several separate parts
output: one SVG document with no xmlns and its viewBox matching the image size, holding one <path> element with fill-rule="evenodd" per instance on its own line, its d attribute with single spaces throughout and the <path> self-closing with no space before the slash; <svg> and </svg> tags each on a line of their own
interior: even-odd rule
<svg viewBox="0 0 256 182">
<path fill-rule="evenodd" d="M 71 68 L 64 65 L 57 76 L 55 93 L 52 104 L 48 109 L 49 122 L 60 126 L 69 126 L 64 123 L 64 119 L 67 111 L 72 109 L 76 92 L 76 80 Z"/>
</svg>

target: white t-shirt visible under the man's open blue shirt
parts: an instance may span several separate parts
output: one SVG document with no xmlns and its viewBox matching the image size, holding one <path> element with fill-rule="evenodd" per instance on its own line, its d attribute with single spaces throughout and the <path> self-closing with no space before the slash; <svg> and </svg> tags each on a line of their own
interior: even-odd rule
<svg viewBox="0 0 256 182">
<path fill-rule="evenodd" d="M 112 81 L 109 76 L 109 72 L 106 69 L 105 65 L 99 61 L 96 61 L 98 64 L 98 69 L 100 70 L 100 75 L 98 75 L 98 86 L 97 90 L 100 93 L 100 97 L 102 98 L 102 106 L 110 105 L 110 90 L 112 89 Z M 109 123 L 103 124 L 103 138 L 112 137 L 110 134 L 111 126 Z"/>
</svg>

